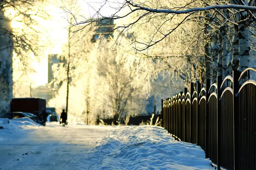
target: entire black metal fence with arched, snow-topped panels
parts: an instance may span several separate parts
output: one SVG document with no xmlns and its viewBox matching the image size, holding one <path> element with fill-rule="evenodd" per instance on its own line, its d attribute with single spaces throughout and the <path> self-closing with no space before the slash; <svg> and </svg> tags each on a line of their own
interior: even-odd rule
<svg viewBox="0 0 256 170">
<path fill-rule="evenodd" d="M 209 79 L 191 83 L 189 91 L 162 100 L 162 126 L 175 140 L 200 146 L 218 169 L 256 170 L 256 81 L 250 71 L 256 69 L 218 76 L 212 85 Z"/>
</svg>

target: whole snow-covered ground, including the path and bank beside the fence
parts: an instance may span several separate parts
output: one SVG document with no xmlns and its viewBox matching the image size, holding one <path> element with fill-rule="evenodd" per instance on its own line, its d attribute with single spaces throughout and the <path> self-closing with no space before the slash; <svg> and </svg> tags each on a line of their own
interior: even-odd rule
<svg viewBox="0 0 256 170">
<path fill-rule="evenodd" d="M 0 120 L 0 170 L 213 170 L 195 144 L 161 127 Z"/>
</svg>

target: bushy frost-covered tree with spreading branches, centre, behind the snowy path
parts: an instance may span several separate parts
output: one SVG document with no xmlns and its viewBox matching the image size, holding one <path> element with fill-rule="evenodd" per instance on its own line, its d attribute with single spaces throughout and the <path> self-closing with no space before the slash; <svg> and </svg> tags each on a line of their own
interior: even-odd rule
<svg viewBox="0 0 256 170">
<path fill-rule="evenodd" d="M 117 55 L 122 55 L 122 53 L 111 46 L 111 40 L 104 40 L 94 53 L 97 57 L 96 66 L 99 79 L 102 81 L 101 85 L 105 86 L 105 88 L 101 88 L 103 91 L 96 95 L 103 98 L 102 102 L 110 111 L 109 114 L 113 116 L 116 124 L 126 116 L 143 113 L 146 94 L 142 90 L 142 84 L 133 85 L 136 75 L 140 72 L 131 68 L 130 71 L 127 71 L 125 63 L 116 60 Z"/>
</svg>

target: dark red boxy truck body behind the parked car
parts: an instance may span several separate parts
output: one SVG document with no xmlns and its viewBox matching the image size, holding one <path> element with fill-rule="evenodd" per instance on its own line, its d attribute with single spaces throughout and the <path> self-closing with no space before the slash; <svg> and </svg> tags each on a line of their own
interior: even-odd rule
<svg viewBox="0 0 256 170">
<path fill-rule="evenodd" d="M 38 116 L 46 110 L 46 100 L 40 98 L 13 98 L 11 102 L 11 112 L 27 112 Z"/>
</svg>

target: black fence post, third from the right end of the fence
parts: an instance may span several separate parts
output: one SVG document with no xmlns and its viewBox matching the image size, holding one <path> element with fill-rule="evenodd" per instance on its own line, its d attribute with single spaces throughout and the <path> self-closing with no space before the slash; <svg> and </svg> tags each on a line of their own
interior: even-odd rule
<svg viewBox="0 0 256 170">
<path fill-rule="evenodd" d="M 209 89 L 211 87 L 211 80 L 206 79 L 205 97 L 206 97 L 206 109 L 205 109 L 205 158 L 209 158 Z"/>
</svg>

